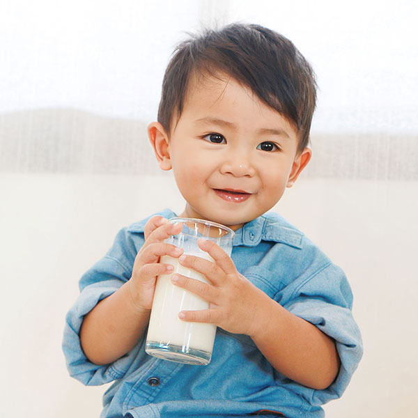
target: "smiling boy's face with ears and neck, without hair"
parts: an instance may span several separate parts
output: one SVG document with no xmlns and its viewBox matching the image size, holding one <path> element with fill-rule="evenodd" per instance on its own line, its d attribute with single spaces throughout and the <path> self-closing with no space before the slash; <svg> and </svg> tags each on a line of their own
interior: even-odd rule
<svg viewBox="0 0 418 418">
<path fill-rule="evenodd" d="M 279 201 L 311 152 L 297 153 L 293 125 L 234 79 L 192 79 L 187 92 L 171 134 L 152 123 L 150 140 L 187 202 L 182 216 L 236 230 Z"/>
</svg>

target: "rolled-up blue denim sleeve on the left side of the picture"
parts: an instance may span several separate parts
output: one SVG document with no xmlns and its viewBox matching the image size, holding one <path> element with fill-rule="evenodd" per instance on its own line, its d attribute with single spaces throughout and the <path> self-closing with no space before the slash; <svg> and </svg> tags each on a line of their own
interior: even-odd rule
<svg viewBox="0 0 418 418">
<path fill-rule="evenodd" d="M 134 358 L 135 348 L 112 364 L 93 364 L 84 355 L 79 332 L 84 316 L 130 279 L 136 254 L 132 238 L 122 229 L 107 254 L 79 281 L 80 295 L 65 318 L 63 352 L 70 376 L 84 385 L 102 385 L 123 377 Z"/>
</svg>

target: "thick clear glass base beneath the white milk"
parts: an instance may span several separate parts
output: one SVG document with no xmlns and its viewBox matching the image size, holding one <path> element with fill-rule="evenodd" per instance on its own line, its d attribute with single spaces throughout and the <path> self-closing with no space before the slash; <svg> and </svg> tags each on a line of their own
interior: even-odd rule
<svg viewBox="0 0 418 418">
<path fill-rule="evenodd" d="M 196 364 L 198 366 L 209 364 L 212 356 L 212 353 L 207 351 L 185 348 L 184 346 L 176 346 L 170 343 L 156 343 L 154 341 L 146 342 L 145 351 L 149 355 L 169 360 L 170 362 Z"/>
</svg>

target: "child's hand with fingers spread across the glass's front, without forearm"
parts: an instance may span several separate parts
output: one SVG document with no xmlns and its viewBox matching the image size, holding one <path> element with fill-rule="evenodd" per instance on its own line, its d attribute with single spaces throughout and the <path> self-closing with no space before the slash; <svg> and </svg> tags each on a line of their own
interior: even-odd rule
<svg viewBox="0 0 418 418">
<path fill-rule="evenodd" d="M 198 241 L 199 247 L 213 258 L 184 255 L 180 264 L 206 276 L 210 284 L 173 274 L 173 284 L 184 288 L 209 302 L 209 309 L 181 311 L 179 318 L 187 322 L 212 323 L 234 334 L 254 336 L 260 327 L 258 313 L 270 298 L 235 268 L 226 252 L 210 240 Z"/>
</svg>

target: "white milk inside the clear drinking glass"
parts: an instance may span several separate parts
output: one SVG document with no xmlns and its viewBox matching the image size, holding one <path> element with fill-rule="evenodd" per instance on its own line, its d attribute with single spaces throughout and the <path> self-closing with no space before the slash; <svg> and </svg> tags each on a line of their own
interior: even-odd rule
<svg viewBox="0 0 418 418">
<path fill-rule="evenodd" d="M 213 261 L 206 253 L 191 255 Z M 203 274 L 180 265 L 178 258 L 162 256 L 160 263 L 173 265 L 172 274 L 179 273 L 208 283 Z M 185 350 L 193 348 L 210 354 L 215 340 L 216 325 L 187 323 L 178 318 L 180 311 L 208 309 L 209 302 L 172 284 L 172 274 L 161 274 L 157 278 L 146 341 L 174 344 L 185 348 Z"/>
</svg>

